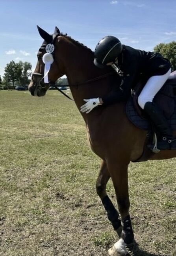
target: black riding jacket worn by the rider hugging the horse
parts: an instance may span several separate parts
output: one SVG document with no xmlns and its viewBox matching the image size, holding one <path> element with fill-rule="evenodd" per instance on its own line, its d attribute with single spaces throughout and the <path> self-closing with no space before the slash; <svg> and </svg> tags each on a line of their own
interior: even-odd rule
<svg viewBox="0 0 176 256">
<path fill-rule="evenodd" d="M 117 67 L 122 72 L 122 83 L 120 87 L 102 97 L 105 106 L 126 101 L 131 89 L 141 77 L 148 80 L 151 76 L 165 74 L 170 69 L 170 62 L 159 53 L 145 52 L 123 45 L 122 53 L 118 56 Z"/>
</svg>

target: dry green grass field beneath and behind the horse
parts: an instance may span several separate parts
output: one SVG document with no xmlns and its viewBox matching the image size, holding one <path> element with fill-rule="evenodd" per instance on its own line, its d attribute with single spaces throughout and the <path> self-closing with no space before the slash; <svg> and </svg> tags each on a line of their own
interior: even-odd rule
<svg viewBox="0 0 176 256">
<path fill-rule="evenodd" d="M 0 256 L 107 256 L 117 241 L 96 195 L 100 159 L 84 121 L 54 93 L 0 91 Z M 130 164 L 131 255 L 176 255 L 175 165 Z M 107 191 L 117 206 L 111 181 Z"/>
</svg>

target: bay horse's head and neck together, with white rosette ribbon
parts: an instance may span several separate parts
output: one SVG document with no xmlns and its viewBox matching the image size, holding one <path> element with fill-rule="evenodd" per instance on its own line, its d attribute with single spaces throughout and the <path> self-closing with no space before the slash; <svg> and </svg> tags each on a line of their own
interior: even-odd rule
<svg viewBox="0 0 176 256">
<path fill-rule="evenodd" d="M 94 52 L 67 34 L 60 33 L 57 27 L 52 35 L 37 28 L 44 42 L 37 53 L 37 65 L 28 87 L 31 95 L 44 96 L 48 88 L 65 74 L 80 108 L 84 98 L 105 95 L 113 86 L 110 80 L 114 76 L 115 80 L 119 79 L 115 72 L 113 77 L 109 76 L 112 74 L 110 67 L 98 69 L 93 63 Z"/>
</svg>

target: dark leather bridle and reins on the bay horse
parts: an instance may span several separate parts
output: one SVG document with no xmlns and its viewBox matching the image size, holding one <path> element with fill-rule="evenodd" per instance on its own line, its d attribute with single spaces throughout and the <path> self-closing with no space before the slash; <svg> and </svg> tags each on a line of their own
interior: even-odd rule
<svg viewBox="0 0 176 256">
<path fill-rule="evenodd" d="M 57 37 L 57 35 L 54 37 L 54 39 L 53 39 L 53 41 L 52 41 L 52 44 L 54 44 L 54 41 L 55 41 L 56 37 Z M 46 49 L 46 46 L 47 46 L 46 44 L 43 44 L 43 45 L 39 48 L 39 51 Z M 56 61 L 56 59 L 54 58 L 54 51 L 51 52 L 51 54 L 52 54 L 53 59 Z M 68 87 L 71 87 L 71 86 L 77 86 L 77 87 L 78 87 L 78 86 L 80 86 L 80 85 L 85 85 L 85 84 L 88 84 L 88 83 L 95 82 L 95 81 L 97 81 L 97 80 L 101 80 L 101 79 L 103 79 L 103 78 L 105 78 L 105 77 L 107 77 L 107 76 L 109 76 L 109 75 L 112 75 L 112 74 L 114 74 L 114 71 L 113 71 L 113 72 L 106 73 L 106 74 L 103 74 L 103 75 L 101 75 L 101 76 L 97 76 L 97 77 L 95 77 L 95 78 L 89 79 L 89 80 L 87 80 L 87 81 L 85 81 L 85 82 L 82 82 L 82 83 L 59 85 L 59 87 L 65 87 L 65 86 L 66 86 L 66 87 L 67 87 L 67 86 L 68 86 Z M 39 82 L 37 83 L 37 82 L 33 79 L 33 75 L 34 75 L 34 76 L 41 77 L 41 80 L 39 80 Z M 64 75 L 64 74 L 62 74 L 62 75 Z M 69 98 L 70 100 L 72 100 L 72 98 L 70 98 L 67 94 L 65 94 L 61 89 L 59 89 L 59 88 L 57 87 L 56 82 L 48 81 L 48 83 L 44 83 L 44 85 L 42 85 L 42 84 L 41 84 L 41 81 L 43 80 L 44 76 L 45 76 L 45 75 L 43 75 L 43 74 L 41 74 L 41 73 L 36 73 L 36 72 L 32 73 L 31 80 L 33 81 L 33 86 L 34 86 L 36 89 L 37 89 L 37 88 L 41 88 L 42 90 L 47 91 L 47 89 L 46 89 L 46 84 L 47 84 L 47 85 L 49 85 L 49 86 L 55 87 L 60 93 L 62 93 L 64 96 L 66 96 L 67 98 Z"/>
</svg>

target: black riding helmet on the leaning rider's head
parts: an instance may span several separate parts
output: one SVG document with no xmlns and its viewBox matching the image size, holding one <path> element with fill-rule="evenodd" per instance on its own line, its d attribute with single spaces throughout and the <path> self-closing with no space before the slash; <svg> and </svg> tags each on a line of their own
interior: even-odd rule
<svg viewBox="0 0 176 256">
<path fill-rule="evenodd" d="M 122 44 L 117 37 L 107 35 L 96 45 L 94 52 L 94 65 L 104 68 L 107 63 L 115 61 L 115 58 L 122 52 Z"/>
</svg>

